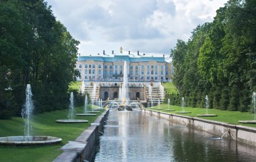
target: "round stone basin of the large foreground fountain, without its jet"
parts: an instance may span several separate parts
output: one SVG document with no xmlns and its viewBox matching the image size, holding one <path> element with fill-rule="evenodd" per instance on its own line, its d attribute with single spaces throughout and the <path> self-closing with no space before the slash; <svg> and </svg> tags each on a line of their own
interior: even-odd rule
<svg viewBox="0 0 256 162">
<path fill-rule="evenodd" d="M 54 136 L 5 136 L 0 138 L 0 145 L 50 145 L 61 140 Z"/>
</svg>

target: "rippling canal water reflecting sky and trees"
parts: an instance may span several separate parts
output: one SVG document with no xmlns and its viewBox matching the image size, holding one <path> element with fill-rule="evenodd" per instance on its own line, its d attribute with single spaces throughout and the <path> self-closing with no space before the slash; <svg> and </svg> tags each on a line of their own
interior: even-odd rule
<svg viewBox="0 0 256 162">
<path fill-rule="evenodd" d="M 119 119 L 113 120 L 113 119 Z M 141 112 L 110 112 L 95 161 L 255 161 L 255 147 L 171 125 Z"/>
</svg>

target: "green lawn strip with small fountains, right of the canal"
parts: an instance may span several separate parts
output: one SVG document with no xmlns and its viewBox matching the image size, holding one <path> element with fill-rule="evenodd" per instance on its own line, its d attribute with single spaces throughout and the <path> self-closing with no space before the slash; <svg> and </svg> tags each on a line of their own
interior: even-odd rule
<svg viewBox="0 0 256 162">
<path fill-rule="evenodd" d="M 154 108 L 158 108 L 158 106 L 154 106 Z M 164 108 L 164 110 L 168 110 L 167 104 L 160 104 L 160 108 Z M 217 114 L 218 116 L 215 117 L 199 117 L 196 116 L 197 114 L 205 114 L 206 110 L 205 108 L 190 108 L 185 107 L 184 110 L 182 110 L 181 106 L 172 106 L 170 105 L 171 110 L 175 110 L 174 112 L 167 112 L 164 110 L 157 110 L 160 112 L 167 112 L 176 114 L 175 112 L 191 112 L 191 114 L 179 114 L 182 116 L 192 116 L 197 118 L 203 118 L 207 120 L 215 120 L 218 122 L 226 122 L 228 124 L 236 124 L 236 125 L 243 125 L 243 126 L 251 126 L 256 128 L 256 124 L 242 124 L 239 123 L 238 120 L 254 120 L 254 114 L 251 114 L 249 112 L 238 112 L 238 111 L 227 111 L 227 110 L 216 110 L 216 109 L 208 109 L 208 114 Z"/>
</svg>

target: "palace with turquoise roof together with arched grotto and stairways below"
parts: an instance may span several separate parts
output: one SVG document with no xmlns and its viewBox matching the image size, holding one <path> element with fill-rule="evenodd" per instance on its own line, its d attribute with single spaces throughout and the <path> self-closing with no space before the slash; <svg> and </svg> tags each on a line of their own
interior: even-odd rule
<svg viewBox="0 0 256 162">
<path fill-rule="evenodd" d="M 171 81 L 173 74 L 170 58 L 156 55 L 119 54 L 112 51 L 97 56 L 79 56 L 76 68 L 83 81 L 84 91 L 92 100 L 122 99 L 122 85 L 127 86 L 127 96 L 143 103 L 158 103 L 164 99 L 162 82 Z"/>
</svg>

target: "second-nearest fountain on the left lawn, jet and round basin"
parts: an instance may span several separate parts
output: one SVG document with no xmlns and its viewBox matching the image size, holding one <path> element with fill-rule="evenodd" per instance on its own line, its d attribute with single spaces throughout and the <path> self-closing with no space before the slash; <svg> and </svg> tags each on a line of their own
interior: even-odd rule
<svg viewBox="0 0 256 162">
<path fill-rule="evenodd" d="M 68 120 L 56 120 L 56 122 L 59 123 L 84 123 L 84 122 L 88 122 L 88 120 L 75 120 L 74 119 L 74 105 L 73 105 L 73 92 L 71 92 L 70 94 L 70 98 L 69 98 L 69 116 L 68 116 Z"/>
</svg>

